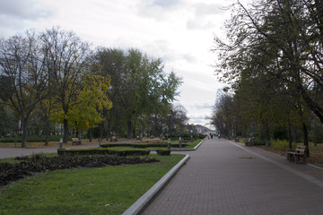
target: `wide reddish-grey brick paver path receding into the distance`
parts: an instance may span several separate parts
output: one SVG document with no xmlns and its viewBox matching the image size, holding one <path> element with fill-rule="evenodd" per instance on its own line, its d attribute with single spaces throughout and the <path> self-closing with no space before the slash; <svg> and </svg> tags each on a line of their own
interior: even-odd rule
<svg viewBox="0 0 323 215">
<path fill-rule="evenodd" d="M 206 140 L 143 214 L 323 214 L 323 171 Z"/>
</svg>

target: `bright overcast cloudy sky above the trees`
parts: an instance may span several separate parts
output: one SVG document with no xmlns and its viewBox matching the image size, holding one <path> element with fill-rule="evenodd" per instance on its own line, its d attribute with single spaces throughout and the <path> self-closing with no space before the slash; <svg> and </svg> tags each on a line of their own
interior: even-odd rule
<svg viewBox="0 0 323 215">
<path fill-rule="evenodd" d="M 0 0 L 0 37 L 60 26 L 104 47 L 135 47 L 160 57 L 183 79 L 180 103 L 190 123 L 208 125 L 216 91 L 214 35 L 229 12 L 223 0 Z"/>
</svg>

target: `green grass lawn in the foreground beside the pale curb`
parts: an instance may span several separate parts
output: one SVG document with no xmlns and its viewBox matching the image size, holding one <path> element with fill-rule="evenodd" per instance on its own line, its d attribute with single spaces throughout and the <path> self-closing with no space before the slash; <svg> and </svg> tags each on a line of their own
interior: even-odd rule
<svg viewBox="0 0 323 215">
<path fill-rule="evenodd" d="M 161 162 L 56 170 L 0 191 L 0 214 L 122 214 L 184 155 L 151 156 Z"/>
</svg>

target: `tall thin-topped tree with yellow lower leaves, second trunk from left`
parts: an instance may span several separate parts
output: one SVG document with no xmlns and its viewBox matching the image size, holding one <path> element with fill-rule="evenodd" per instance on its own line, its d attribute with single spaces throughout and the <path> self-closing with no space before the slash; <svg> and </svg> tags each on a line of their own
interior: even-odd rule
<svg viewBox="0 0 323 215">
<path fill-rule="evenodd" d="M 88 69 L 86 60 L 91 48 L 74 32 L 52 28 L 41 35 L 43 48 L 48 52 L 49 91 L 46 113 L 53 121 L 64 125 L 63 142 L 68 138 L 68 115 L 83 90 L 83 73 Z"/>
</svg>

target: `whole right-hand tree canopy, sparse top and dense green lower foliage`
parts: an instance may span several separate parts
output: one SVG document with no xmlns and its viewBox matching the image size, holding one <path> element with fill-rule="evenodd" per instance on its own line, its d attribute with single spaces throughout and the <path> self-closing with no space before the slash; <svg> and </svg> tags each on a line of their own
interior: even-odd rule
<svg viewBox="0 0 323 215">
<path fill-rule="evenodd" d="M 304 135 L 309 111 L 323 123 L 322 9 L 320 0 L 231 5 L 227 39 L 215 38 L 214 52 L 216 73 L 244 107 L 240 118 L 269 130 L 301 122 Z"/>
</svg>

